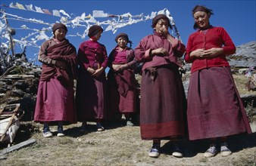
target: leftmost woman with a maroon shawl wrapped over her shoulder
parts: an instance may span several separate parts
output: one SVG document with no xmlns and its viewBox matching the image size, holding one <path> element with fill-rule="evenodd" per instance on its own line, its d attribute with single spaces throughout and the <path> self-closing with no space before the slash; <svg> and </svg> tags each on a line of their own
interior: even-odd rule
<svg viewBox="0 0 256 166">
<path fill-rule="evenodd" d="M 54 38 L 45 41 L 39 50 L 42 74 L 36 98 L 34 121 L 44 123 L 43 136 L 52 137 L 51 121 L 58 121 L 57 136 L 64 136 L 63 122 L 76 123 L 73 79 L 76 78 L 76 48 L 65 38 L 67 27 L 55 23 Z"/>
</svg>

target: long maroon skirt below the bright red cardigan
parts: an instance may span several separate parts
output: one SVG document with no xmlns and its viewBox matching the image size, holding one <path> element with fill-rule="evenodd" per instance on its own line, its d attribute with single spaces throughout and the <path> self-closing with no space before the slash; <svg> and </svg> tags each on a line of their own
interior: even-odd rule
<svg viewBox="0 0 256 166">
<path fill-rule="evenodd" d="M 192 72 L 187 102 L 189 140 L 251 133 L 229 67 Z"/>
</svg>

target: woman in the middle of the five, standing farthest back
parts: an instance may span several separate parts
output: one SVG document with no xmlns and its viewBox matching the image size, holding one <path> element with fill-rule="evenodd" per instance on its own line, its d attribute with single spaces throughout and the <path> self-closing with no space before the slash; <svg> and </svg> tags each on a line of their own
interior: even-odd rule
<svg viewBox="0 0 256 166">
<path fill-rule="evenodd" d="M 111 115 L 123 113 L 126 125 L 133 126 L 136 113 L 136 79 L 134 75 L 134 51 L 127 47 L 130 42 L 126 33 L 115 38 L 117 46 L 108 57 L 108 92 Z M 131 43 L 131 42 L 130 42 Z"/>
</svg>

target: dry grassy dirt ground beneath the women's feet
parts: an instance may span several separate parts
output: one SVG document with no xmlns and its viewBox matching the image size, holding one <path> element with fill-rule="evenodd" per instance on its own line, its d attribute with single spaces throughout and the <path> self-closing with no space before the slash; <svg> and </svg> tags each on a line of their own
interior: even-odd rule
<svg viewBox="0 0 256 166">
<path fill-rule="evenodd" d="M 124 121 L 105 124 L 98 132 L 95 123 L 89 123 L 86 134 L 79 134 L 80 123 L 64 126 L 66 137 L 42 137 L 42 124 L 23 122 L 15 143 L 36 139 L 33 145 L 7 155 L 0 155 L 0 165 L 256 165 L 256 133 L 229 137 L 233 154 L 204 158 L 207 140 L 181 142 L 184 157 L 171 155 L 171 143 L 161 142 L 159 158 L 148 157 L 151 141 L 141 140 L 139 126 L 128 127 Z M 3 149 L 6 145 L 1 145 Z"/>
</svg>

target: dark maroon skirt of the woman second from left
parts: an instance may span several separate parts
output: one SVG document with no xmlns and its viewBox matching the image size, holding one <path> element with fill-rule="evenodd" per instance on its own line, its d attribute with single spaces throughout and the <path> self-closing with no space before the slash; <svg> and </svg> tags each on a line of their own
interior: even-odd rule
<svg viewBox="0 0 256 166">
<path fill-rule="evenodd" d="M 76 84 L 76 110 L 78 121 L 97 121 L 107 117 L 105 72 L 98 78 L 83 70 L 79 72 Z"/>
</svg>

